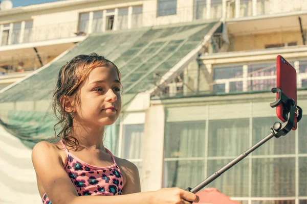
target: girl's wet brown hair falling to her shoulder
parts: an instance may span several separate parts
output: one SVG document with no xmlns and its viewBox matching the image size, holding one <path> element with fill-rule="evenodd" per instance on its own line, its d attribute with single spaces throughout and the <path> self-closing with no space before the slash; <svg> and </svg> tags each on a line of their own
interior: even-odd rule
<svg viewBox="0 0 307 204">
<path fill-rule="evenodd" d="M 120 80 L 120 71 L 117 66 L 96 53 L 78 55 L 62 66 L 59 71 L 52 103 L 54 114 L 59 119 L 58 123 L 53 127 L 55 138 L 62 139 L 67 146 L 73 147 L 75 150 L 79 148 L 79 142 L 71 135 L 74 116 L 72 113 L 65 111 L 63 100 L 65 101 L 68 96 L 73 96 L 77 92 L 80 84 L 86 79 L 91 70 L 102 66 L 116 68 Z M 74 97 L 79 100 L 78 94 L 75 94 Z M 58 134 L 56 133 L 57 125 L 61 125 L 61 130 Z"/>
</svg>

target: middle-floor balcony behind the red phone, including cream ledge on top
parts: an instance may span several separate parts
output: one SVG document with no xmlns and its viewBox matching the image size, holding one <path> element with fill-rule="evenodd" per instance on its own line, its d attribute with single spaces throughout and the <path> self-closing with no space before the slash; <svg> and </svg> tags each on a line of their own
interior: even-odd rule
<svg viewBox="0 0 307 204">
<path fill-rule="evenodd" d="M 267 92 L 276 87 L 276 57 L 296 69 L 297 89 L 307 89 L 307 46 L 203 55 L 198 65 L 178 71 L 151 96 L 183 97 Z M 159 73 L 156 81 L 159 82 Z"/>
</svg>

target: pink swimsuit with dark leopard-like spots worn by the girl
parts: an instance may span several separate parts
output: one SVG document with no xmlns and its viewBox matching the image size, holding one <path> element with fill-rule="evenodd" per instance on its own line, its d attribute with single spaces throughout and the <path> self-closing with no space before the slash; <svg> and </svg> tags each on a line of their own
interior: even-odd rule
<svg viewBox="0 0 307 204">
<path fill-rule="evenodd" d="M 114 164 L 108 167 L 96 167 L 87 164 L 71 154 L 62 143 L 67 154 L 67 165 L 65 171 L 74 184 L 78 195 L 120 195 L 124 186 L 122 173 L 117 166 L 111 151 L 106 149 L 111 155 Z M 47 194 L 42 196 L 43 204 L 51 204 Z"/>
</svg>

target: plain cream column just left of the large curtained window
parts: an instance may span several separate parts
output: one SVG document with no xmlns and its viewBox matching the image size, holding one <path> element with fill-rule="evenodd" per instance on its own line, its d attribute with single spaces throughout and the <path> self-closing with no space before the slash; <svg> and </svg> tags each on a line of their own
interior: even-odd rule
<svg viewBox="0 0 307 204">
<path fill-rule="evenodd" d="M 162 105 L 151 106 L 145 116 L 142 192 L 162 188 L 164 124 L 164 107 Z"/>
</svg>

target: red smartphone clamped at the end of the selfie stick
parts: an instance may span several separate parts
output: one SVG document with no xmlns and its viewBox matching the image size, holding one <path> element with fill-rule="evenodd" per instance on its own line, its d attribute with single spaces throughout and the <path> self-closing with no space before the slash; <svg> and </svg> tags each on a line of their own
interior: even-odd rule
<svg viewBox="0 0 307 204">
<path fill-rule="evenodd" d="M 276 59 L 276 71 L 277 71 L 277 88 L 279 88 L 288 98 L 292 98 L 296 104 L 296 70 L 295 68 L 282 56 L 278 55 Z M 278 99 L 278 93 L 276 98 Z M 282 104 L 276 107 L 277 117 L 286 122 L 288 120 L 288 114 L 290 110 L 287 110 Z M 296 130 L 297 127 L 297 115 L 294 116 L 294 124 L 292 130 Z"/>
</svg>

